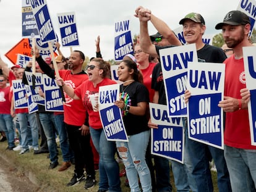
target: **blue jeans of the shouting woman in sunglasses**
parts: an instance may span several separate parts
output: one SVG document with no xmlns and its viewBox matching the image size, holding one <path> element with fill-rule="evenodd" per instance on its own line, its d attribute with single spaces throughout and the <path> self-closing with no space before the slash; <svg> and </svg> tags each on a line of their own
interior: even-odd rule
<svg viewBox="0 0 256 192">
<path fill-rule="evenodd" d="M 99 190 L 109 190 L 109 192 L 121 192 L 121 182 L 119 178 L 119 165 L 114 159 L 116 153 L 116 142 L 106 140 L 102 128 L 94 129 L 90 127 L 90 133 L 95 149 L 100 155 Z"/>
</svg>

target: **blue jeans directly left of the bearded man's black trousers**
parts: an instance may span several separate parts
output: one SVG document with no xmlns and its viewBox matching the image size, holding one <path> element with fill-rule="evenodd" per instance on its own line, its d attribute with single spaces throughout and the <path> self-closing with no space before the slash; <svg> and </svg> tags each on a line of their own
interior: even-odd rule
<svg viewBox="0 0 256 192">
<path fill-rule="evenodd" d="M 59 133 L 59 145 L 61 146 L 62 158 L 64 162 L 70 161 L 69 140 L 67 138 L 67 130 L 64 124 L 64 115 L 54 115 L 56 129 Z"/>
</svg>

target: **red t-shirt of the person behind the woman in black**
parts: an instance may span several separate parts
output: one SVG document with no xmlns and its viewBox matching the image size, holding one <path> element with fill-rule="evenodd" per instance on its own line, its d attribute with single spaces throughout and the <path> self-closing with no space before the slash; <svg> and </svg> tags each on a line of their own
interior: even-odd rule
<svg viewBox="0 0 256 192">
<path fill-rule="evenodd" d="M 151 89 L 151 81 L 152 81 L 152 72 L 156 63 L 150 63 L 147 69 L 140 69 L 143 75 L 143 84 L 147 87 L 150 93 L 150 102 L 153 101 L 153 96 L 155 94 L 155 90 Z"/>
</svg>

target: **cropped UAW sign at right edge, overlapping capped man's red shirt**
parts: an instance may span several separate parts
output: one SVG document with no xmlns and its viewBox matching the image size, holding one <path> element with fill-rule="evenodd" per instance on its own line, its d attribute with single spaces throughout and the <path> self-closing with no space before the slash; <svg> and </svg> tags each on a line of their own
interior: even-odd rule
<svg viewBox="0 0 256 192">
<path fill-rule="evenodd" d="M 250 138 L 252 145 L 256 145 L 256 47 L 244 47 L 242 52 L 244 54 L 246 88 L 250 91 L 250 101 L 248 103 Z"/>
</svg>

